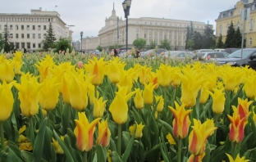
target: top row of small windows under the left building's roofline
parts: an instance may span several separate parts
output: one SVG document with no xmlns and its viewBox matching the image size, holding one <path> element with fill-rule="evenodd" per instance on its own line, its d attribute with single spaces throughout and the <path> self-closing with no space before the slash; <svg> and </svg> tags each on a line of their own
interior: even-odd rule
<svg viewBox="0 0 256 162">
<path fill-rule="evenodd" d="M 0 21 L 52 22 L 53 18 L 0 17 Z"/>
</svg>

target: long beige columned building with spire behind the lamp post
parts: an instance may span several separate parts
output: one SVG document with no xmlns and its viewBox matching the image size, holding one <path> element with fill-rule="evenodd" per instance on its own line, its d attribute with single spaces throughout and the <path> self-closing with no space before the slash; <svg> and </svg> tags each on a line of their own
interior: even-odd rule
<svg viewBox="0 0 256 162">
<path fill-rule="evenodd" d="M 128 47 L 133 47 L 132 43 L 136 38 L 144 38 L 146 40 L 146 46 L 149 46 L 152 41 L 155 41 L 160 45 L 161 41 L 167 38 L 172 50 L 184 49 L 187 32 L 186 27 L 190 25 L 190 22 L 190 20 L 172 20 L 151 17 L 129 18 Z M 195 31 L 203 34 L 204 26 L 206 25 L 205 23 L 193 21 L 193 25 Z M 118 39 L 117 33 L 119 35 Z M 105 26 L 99 30 L 98 37 L 95 37 L 94 39 L 96 38 L 98 38 L 98 45 L 105 50 L 114 44 L 126 47 L 126 20 L 120 18 L 117 23 L 116 11 L 113 9 L 112 16 L 109 18 L 106 17 Z M 84 39 L 85 38 L 83 38 L 83 42 Z M 85 46 L 83 43 L 83 50 L 96 49 L 98 46 L 96 42 L 97 41 L 93 41 L 95 44 L 88 46 Z"/>
</svg>

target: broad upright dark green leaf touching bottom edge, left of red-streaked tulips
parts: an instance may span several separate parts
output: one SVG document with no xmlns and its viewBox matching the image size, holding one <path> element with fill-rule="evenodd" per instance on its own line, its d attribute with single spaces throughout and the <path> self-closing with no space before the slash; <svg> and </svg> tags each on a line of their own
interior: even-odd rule
<svg viewBox="0 0 256 162">
<path fill-rule="evenodd" d="M 37 134 L 34 140 L 34 146 L 33 146 L 34 161 L 40 161 L 42 159 L 44 134 L 45 134 L 47 122 L 48 122 L 48 118 L 43 119 L 43 123 L 39 128 L 39 133 Z"/>
</svg>

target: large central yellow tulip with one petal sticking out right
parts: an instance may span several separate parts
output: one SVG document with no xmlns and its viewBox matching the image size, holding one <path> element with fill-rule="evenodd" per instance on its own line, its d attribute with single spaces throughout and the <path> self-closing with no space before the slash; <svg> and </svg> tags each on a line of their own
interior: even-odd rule
<svg viewBox="0 0 256 162">
<path fill-rule="evenodd" d="M 135 92 L 130 92 L 127 94 L 127 87 L 118 87 L 116 97 L 109 106 L 109 111 L 111 112 L 112 117 L 117 124 L 126 123 L 128 117 L 127 101 L 134 94 Z"/>
</svg>

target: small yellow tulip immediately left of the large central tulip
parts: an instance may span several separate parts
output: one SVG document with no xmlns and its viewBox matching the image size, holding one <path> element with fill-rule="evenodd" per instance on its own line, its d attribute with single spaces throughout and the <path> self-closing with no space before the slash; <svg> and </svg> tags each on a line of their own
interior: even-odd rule
<svg viewBox="0 0 256 162">
<path fill-rule="evenodd" d="M 107 100 L 103 101 L 103 97 L 99 99 L 94 97 L 94 118 L 103 117 Z"/>
</svg>

